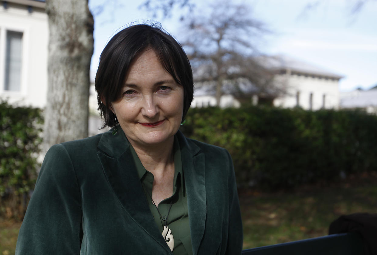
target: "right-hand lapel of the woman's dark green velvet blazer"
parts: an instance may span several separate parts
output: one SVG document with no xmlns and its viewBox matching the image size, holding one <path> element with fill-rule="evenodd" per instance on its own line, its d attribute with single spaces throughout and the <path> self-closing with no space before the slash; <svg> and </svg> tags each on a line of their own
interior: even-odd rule
<svg viewBox="0 0 377 255">
<path fill-rule="evenodd" d="M 187 140 L 181 131 L 177 133 L 181 147 L 184 182 L 187 192 L 191 243 L 193 254 L 198 254 L 205 229 L 207 215 L 205 191 L 205 157 L 200 148 Z"/>
</svg>

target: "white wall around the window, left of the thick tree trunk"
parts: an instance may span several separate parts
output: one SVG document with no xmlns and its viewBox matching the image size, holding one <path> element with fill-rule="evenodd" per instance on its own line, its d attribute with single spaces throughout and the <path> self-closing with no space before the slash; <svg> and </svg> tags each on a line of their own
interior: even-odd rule
<svg viewBox="0 0 377 255">
<path fill-rule="evenodd" d="M 22 32 L 21 90 L 6 91 L 6 31 Z M 42 9 L 8 2 L 0 6 L 0 98 L 12 104 L 44 107 L 47 95 L 48 18 Z"/>
</svg>

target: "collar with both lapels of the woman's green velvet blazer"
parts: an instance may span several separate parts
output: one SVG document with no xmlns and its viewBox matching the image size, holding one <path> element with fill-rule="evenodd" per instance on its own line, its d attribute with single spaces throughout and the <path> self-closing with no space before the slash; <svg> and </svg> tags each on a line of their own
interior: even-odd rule
<svg viewBox="0 0 377 255">
<path fill-rule="evenodd" d="M 104 174 L 124 210 L 135 222 L 152 236 L 167 252 L 169 247 L 150 212 L 143 187 L 136 171 L 127 138 L 120 126 L 113 134 L 113 129 L 102 134 L 97 152 Z M 205 193 L 205 158 L 204 153 L 191 140 L 186 139 L 181 131 L 176 134 L 181 148 L 182 168 L 187 192 L 187 207 L 193 254 L 198 254 L 207 214 Z M 134 197 L 137 199 L 129 199 Z"/>
</svg>

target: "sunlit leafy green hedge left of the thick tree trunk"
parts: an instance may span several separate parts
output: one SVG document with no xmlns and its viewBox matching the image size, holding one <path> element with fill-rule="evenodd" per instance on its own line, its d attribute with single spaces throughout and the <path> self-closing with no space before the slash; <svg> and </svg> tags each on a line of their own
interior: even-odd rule
<svg viewBox="0 0 377 255">
<path fill-rule="evenodd" d="M 38 108 L 0 102 L 0 216 L 22 218 L 34 189 L 42 131 Z"/>
</svg>

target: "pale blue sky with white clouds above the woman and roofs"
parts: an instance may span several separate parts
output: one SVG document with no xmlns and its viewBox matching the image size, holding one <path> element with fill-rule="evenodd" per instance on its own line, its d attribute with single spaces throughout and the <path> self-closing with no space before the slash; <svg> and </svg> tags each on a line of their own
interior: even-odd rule
<svg viewBox="0 0 377 255">
<path fill-rule="evenodd" d="M 263 21 L 273 31 L 258 43 L 259 49 L 271 55 L 287 55 L 323 67 L 345 76 L 340 91 L 357 87 L 368 89 L 377 85 L 377 1 L 369 1 L 356 14 L 351 13 L 350 0 L 326 0 L 315 9 L 305 11 L 310 0 L 233 0 L 251 7 L 250 17 Z M 103 3 L 90 0 L 89 8 Z M 139 9 L 143 1 L 121 1 L 113 8 L 113 1 L 100 15 L 95 16 L 94 54 L 91 71 L 98 67 L 98 59 L 107 41 L 121 27 L 133 21 L 153 20 L 152 15 Z M 209 2 L 193 1 L 196 10 L 205 10 Z M 313 2 L 313 1 L 311 1 Z M 178 41 L 184 36 L 179 23 L 180 9 L 170 18 L 158 19 Z"/>
</svg>

